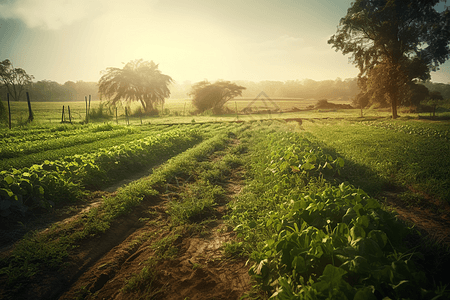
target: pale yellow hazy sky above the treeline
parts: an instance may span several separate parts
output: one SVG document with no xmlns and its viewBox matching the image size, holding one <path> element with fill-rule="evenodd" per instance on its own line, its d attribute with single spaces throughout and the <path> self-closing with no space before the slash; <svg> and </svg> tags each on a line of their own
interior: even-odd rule
<svg viewBox="0 0 450 300">
<path fill-rule="evenodd" d="M 355 77 L 327 40 L 351 0 L 0 0 L 0 60 L 98 81 L 143 58 L 178 82 Z M 450 62 L 432 72 L 450 82 Z"/>
</svg>

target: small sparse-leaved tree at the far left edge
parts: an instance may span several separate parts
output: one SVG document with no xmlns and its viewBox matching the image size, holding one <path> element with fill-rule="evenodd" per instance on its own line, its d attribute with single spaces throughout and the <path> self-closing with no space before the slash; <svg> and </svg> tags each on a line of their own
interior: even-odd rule
<svg viewBox="0 0 450 300">
<path fill-rule="evenodd" d="M 22 68 L 14 68 L 9 59 L 0 62 L 0 82 L 6 86 L 6 90 L 15 101 L 20 100 L 20 96 L 25 87 L 34 79 L 33 75 L 28 75 Z"/>
</svg>

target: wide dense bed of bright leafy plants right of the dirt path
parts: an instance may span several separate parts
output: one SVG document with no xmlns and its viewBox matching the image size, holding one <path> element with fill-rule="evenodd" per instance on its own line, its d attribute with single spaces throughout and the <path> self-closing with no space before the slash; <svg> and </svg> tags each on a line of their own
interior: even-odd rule
<svg viewBox="0 0 450 300">
<path fill-rule="evenodd" d="M 230 205 L 230 221 L 255 261 L 250 273 L 273 299 L 445 294 L 402 244 L 408 229 L 361 189 L 337 184 L 330 171 L 342 160 L 299 133 L 255 136 L 252 180 Z"/>
</svg>

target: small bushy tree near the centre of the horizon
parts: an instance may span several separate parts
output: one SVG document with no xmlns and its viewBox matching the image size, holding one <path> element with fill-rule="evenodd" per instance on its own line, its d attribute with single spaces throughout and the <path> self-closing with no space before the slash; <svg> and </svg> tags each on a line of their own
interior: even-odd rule
<svg viewBox="0 0 450 300">
<path fill-rule="evenodd" d="M 236 96 L 242 96 L 243 90 L 245 87 L 230 81 L 210 83 L 204 80 L 192 86 L 190 95 L 193 97 L 192 104 L 198 112 L 211 109 L 214 114 L 219 114 L 223 110 L 223 105 Z"/>
</svg>

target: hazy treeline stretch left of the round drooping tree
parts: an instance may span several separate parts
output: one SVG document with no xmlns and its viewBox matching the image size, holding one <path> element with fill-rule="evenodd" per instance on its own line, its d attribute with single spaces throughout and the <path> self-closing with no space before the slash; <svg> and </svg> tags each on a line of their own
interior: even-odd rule
<svg viewBox="0 0 450 300">
<path fill-rule="evenodd" d="M 92 100 L 99 99 L 97 82 L 67 81 L 59 84 L 55 81 L 41 80 L 25 88 L 31 101 L 82 101 L 91 95 Z M 0 98 L 6 100 L 6 87 L 0 85 Z M 25 93 L 22 100 L 26 100 Z"/>
</svg>

